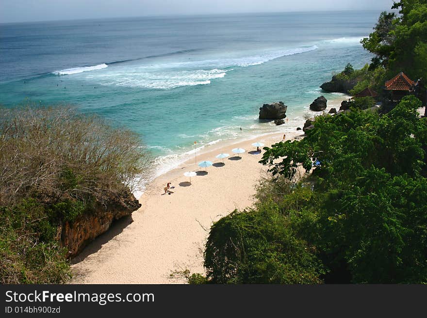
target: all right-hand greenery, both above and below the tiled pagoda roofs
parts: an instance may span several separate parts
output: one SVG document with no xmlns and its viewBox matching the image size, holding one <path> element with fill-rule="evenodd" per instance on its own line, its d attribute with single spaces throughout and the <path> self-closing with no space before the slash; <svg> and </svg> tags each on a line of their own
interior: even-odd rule
<svg viewBox="0 0 427 318">
<path fill-rule="evenodd" d="M 361 41 L 371 63 L 347 64 L 332 89 L 380 91 L 401 71 L 427 78 L 427 1 L 393 8 L 400 15 L 381 13 Z M 427 118 L 415 96 L 387 112 L 362 110 L 373 102 L 355 99 L 350 112 L 316 117 L 302 140 L 264 147 L 271 179 L 252 209 L 213 224 L 206 277 L 188 281 L 426 284 Z"/>
</svg>

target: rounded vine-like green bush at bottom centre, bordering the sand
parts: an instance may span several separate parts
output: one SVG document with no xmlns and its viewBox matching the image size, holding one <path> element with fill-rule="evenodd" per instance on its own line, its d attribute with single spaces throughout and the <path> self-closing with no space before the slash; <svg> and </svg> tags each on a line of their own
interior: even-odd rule
<svg viewBox="0 0 427 318">
<path fill-rule="evenodd" d="M 215 222 L 204 264 L 217 284 L 316 284 L 323 273 L 311 246 L 271 209 L 235 211 Z"/>
</svg>

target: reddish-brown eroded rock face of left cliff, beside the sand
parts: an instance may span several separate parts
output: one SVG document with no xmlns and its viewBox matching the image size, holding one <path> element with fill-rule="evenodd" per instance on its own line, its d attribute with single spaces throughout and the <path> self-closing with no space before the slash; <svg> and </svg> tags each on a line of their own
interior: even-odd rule
<svg viewBox="0 0 427 318">
<path fill-rule="evenodd" d="M 61 244 L 68 248 L 68 257 L 79 254 L 87 244 L 106 232 L 115 220 L 131 215 L 139 207 L 141 204 L 138 200 L 128 193 L 113 199 L 107 206 L 98 204 L 93 212 L 66 221 L 59 228 L 59 233 Z"/>
</svg>

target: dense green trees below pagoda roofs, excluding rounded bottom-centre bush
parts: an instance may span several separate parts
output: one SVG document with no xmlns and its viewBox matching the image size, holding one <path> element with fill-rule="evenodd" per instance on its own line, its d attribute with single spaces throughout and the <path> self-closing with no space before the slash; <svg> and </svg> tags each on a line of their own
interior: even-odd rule
<svg viewBox="0 0 427 318">
<path fill-rule="evenodd" d="M 298 167 L 311 175 L 264 181 L 256 208 L 280 213 L 291 235 L 312 246 L 325 282 L 427 282 L 427 120 L 418 118 L 420 106 L 407 96 L 384 115 L 353 108 L 320 116 L 292 147 L 265 148 L 261 163 L 276 175 L 290 180 Z M 307 158 L 321 165 L 312 169 Z"/>
</svg>

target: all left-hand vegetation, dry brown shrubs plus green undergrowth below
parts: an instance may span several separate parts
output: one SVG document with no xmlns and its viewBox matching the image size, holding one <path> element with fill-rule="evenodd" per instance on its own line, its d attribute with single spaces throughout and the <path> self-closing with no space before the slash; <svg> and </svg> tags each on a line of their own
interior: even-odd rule
<svg viewBox="0 0 427 318">
<path fill-rule="evenodd" d="M 127 204 L 150 156 L 134 133 L 69 107 L 1 109 L 0 283 L 64 283 L 64 230 Z"/>
</svg>

